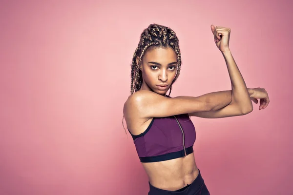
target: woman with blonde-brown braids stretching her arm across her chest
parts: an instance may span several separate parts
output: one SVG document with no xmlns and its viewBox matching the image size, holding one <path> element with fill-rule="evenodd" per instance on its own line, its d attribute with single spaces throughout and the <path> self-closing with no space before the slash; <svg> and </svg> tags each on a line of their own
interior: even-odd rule
<svg viewBox="0 0 293 195">
<path fill-rule="evenodd" d="M 181 55 L 175 32 L 166 26 L 149 25 L 134 52 L 131 95 L 123 112 L 149 179 L 149 195 L 209 195 L 193 155 L 196 134 L 190 116 L 246 115 L 252 111 L 251 99 L 257 103 L 257 98 L 260 110 L 269 104 L 265 89 L 247 89 L 229 49 L 230 28 L 211 25 L 211 32 L 227 64 L 230 91 L 169 96 Z"/>
</svg>

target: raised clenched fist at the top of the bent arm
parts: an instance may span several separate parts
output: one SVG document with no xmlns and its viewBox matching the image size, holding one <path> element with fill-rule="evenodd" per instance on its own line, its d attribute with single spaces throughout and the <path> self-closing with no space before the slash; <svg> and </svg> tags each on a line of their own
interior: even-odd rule
<svg viewBox="0 0 293 195">
<path fill-rule="evenodd" d="M 214 35 L 215 43 L 221 52 L 229 51 L 230 28 L 210 25 L 211 32 Z"/>
</svg>

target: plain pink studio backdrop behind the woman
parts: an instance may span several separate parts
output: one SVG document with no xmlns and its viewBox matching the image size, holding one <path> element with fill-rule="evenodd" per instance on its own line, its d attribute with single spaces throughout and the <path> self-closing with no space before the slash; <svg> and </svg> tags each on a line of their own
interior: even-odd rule
<svg viewBox="0 0 293 195">
<path fill-rule="evenodd" d="M 212 195 L 293 194 L 292 1 L 0 2 L 0 195 L 146 195 L 147 176 L 122 126 L 130 62 L 150 23 L 179 37 L 171 96 L 230 90 L 210 25 L 262 111 L 192 118 L 195 158 Z"/>
</svg>

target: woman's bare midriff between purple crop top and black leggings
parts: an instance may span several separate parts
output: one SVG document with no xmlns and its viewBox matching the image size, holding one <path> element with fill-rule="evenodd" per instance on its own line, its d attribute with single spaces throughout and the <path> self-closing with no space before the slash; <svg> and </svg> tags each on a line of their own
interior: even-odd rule
<svg viewBox="0 0 293 195">
<path fill-rule="evenodd" d="M 191 184 L 199 174 L 193 153 L 171 160 L 142 164 L 149 183 L 163 190 L 179 190 Z"/>
</svg>

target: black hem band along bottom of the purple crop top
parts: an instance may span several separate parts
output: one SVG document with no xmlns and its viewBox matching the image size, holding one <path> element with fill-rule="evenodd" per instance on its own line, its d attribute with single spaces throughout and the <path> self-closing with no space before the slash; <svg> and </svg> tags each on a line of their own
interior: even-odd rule
<svg viewBox="0 0 293 195">
<path fill-rule="evenodd" d="M 193 146 L 186 148 L 186 155 L 193 153 Z M 159 162 L 164 160 L 171 160 L 174 158 L 180 158 L 185 156 L 184 149 L 178 152 L 172 152 L 165 155 L 159 156 L 148 156 L 148 157 L 139 157 L 141 162 Z"/>
</svg>

